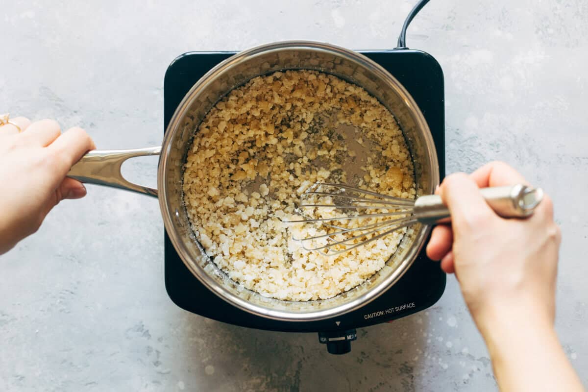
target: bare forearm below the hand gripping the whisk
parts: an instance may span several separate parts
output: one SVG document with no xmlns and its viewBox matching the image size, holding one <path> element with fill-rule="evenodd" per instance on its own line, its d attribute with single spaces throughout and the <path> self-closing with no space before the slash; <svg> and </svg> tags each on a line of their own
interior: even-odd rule
<svg viewBox="0 0 588 392">
<path fill-rule="evenodd" d="M 584 391 L 553 325 L 533 314 L 507 312 L 483 330 L 503 392 Z"/>
</svg>

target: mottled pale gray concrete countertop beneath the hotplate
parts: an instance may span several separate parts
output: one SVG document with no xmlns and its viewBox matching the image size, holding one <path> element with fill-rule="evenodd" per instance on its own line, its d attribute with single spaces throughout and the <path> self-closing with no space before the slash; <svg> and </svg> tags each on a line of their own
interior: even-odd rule
<svg viewBox="0 0 588 392">
<path fill-rule="evenodd" d="M 102 149 L 157 145 L 177 55 L 284 39 L 388 49 L 414 3 L 2 0 L 0 112 L 82 126 Z M 585 384 L 587 38 L 584 0 L 432 0 L 407 36 L 445 71 L 447 172 L 502 159 L 553 196 L 557 331 Z M 153 186 L 155 167 L 125 171 Z M 429 310 L 358 332 L 335 357 L 316 334 L 179 309 L 163 285 L 157 201 L 118 190 L 89 186 L 0 257 L 2 391 L 496 389 L 455 277 Z"/>
</svg>

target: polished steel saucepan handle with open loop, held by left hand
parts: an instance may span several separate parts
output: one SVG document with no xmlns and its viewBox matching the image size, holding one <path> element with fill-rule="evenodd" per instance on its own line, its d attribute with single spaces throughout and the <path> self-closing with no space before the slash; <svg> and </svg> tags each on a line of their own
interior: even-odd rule
<svg viewBox="0 0 588 392">
<path fill-rule="evenodd" d="M 161 146 L 132 150 L 93 150 L 69 170 L 68 177 L 84 183 L 112 186 L 157 197 L 157 189 L 127 181 L 121 173 L 125 160 L 136 156 L 159 155 Z"/>
</svg>

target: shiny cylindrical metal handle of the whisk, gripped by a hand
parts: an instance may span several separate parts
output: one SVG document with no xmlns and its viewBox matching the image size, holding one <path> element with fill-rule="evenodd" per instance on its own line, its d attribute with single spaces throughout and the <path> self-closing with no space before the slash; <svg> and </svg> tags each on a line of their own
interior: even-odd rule
<svg viewBox="0 0 588 392">
<path fill-rule="evenodd" d="M 531 216 L 543 199 L 541 188 L 521 184 L 483 188 L 480 193 L 497 215 L 505 218 Z M 415 217 L 420 223 L 431 225 L 449 216 L 449 209 L 439 195 L 420 196 L 415 200 Z"/>
</svg>

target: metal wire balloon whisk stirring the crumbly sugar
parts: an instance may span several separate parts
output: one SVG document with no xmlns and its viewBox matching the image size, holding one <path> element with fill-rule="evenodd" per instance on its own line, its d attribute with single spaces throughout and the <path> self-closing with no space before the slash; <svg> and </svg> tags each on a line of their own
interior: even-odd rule
<svg viewBox="0 0 588 392">
<path fill-rule="evenodd" d="M 502 217 L 528 217 L 543 199 L 541 188 L 525 185 L 488 187 L 480 193 Z M 301 220 L 287 223 L 302 227 L 298 240 L 306 250 L 335 255 L 387 236 L 417 222 L 430 225 L 449 217 L 437 195 L 416 200 L 382 195 L 369 190 L 331 183 L 316 183 L 300 197 Z"/>
</svg>

